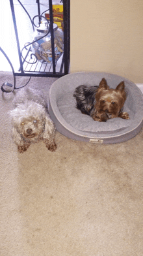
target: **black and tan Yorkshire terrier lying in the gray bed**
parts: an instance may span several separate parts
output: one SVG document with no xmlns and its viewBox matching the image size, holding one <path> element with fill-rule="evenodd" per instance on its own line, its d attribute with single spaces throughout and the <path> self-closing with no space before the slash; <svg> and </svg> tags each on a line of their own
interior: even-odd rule
<svg viewBox="0 0 143 256">
<path fill-rule="evenodd" d="M 77 108 L 95 121 L 107 121 L 111 118 L 129 119 L 127 112 L 122 112 L 126 99 L 124 82 L 116 89 L 110 89 L 105 78 L 99 86 L 78 86 L 73 94 Z"/>
</svg>

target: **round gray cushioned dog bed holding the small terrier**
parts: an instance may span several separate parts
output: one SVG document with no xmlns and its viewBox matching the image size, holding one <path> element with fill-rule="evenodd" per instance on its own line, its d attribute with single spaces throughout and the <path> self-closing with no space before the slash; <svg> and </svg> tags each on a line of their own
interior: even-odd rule
<svg viewBox="0 0 143 256">
<path fill-rule="evenodd" d="M 129 113 L 129 120 L 113 118 L 107 122 L 94 121 L 76 108 L 73 92 L 77 86 L 85 84 L 98 86 L 102 78 L 110 88 L 116 88 L 124 81 L 127 99 L 123 111 Z M 77 72 L 59 78 L 49 91 L 49 114 L 57 130 L 62 135 L 75 140 L 92 143 L 117 143 L 133 138 L 143 124 L 143 95 L 133 82 L 102 72 Z"/>
</svg>

